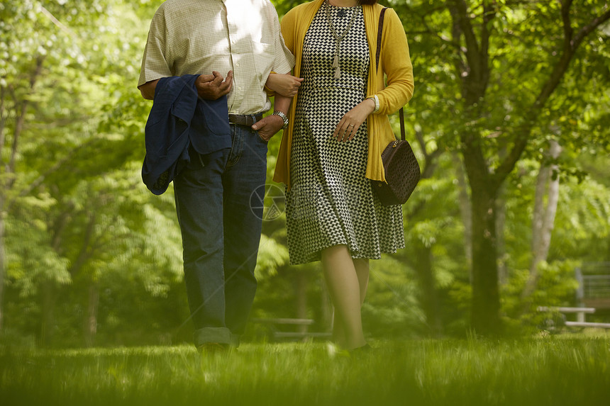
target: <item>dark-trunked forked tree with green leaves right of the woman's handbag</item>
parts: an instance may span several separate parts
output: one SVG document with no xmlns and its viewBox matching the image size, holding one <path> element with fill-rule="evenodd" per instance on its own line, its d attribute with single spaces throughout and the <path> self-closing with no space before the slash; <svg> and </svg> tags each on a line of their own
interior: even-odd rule
<svg viewBox="0 0 610 406">
<path fill-rule="evenodd" d="M 445 142 L 459 150 L 470 186 L 472 327 L 497 334 L 497 198 L 528 147 L 544 139 L 540 128 L 562 116 L 555 106 L 560 86 L 582 86 L 572 78 L 565 83 L 573 61 L 607 52 L 599 40 L 607 34 L 599 28 L 610 11 L 606 1 L 570 0 L 421 1 L 403 10 L 414 35 L 411 53 L 421 62 L 416 67 L 435 69 L 424 73 L 426 87 L 442 87 L 448 96 Z M 442 56 L 444 62 L 431 65 Z"/>
</svg>

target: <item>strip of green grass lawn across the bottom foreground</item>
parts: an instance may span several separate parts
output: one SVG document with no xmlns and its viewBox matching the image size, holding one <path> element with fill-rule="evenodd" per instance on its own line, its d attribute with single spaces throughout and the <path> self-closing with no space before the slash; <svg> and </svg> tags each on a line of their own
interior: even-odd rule
<svg viewBox="0 0 610 406">
<path fill-rule="evenodd" d="M 610 336 L 0 349 L 0 405 L 610 405 Z"/>
</svg>

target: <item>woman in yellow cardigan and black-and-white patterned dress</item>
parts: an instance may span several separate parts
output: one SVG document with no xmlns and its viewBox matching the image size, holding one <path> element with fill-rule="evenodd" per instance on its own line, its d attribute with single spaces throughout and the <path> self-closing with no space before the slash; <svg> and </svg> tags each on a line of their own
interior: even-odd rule
<svg viewBox="0 0 610 406">
<path fill-rule="evenodd" d="M 414 89 L 406 35 L 392 9 L 375 67 L 382 9 L 376 0 L 314 0 L 282 19 L 294 76 L 304 78 L 274 176 L 287 185 L 290 261 L 322 261 L 333 338 L 348 350 L 368 347 L 360 307 L 369 259 L 404 247 L 401 206 L 382 206 L 370 184 L 385 180 L 381 153 L 395 139 L 387 114 Z"/>
</svg>

